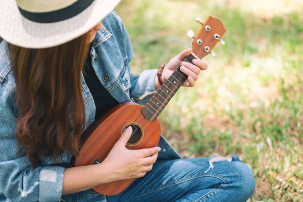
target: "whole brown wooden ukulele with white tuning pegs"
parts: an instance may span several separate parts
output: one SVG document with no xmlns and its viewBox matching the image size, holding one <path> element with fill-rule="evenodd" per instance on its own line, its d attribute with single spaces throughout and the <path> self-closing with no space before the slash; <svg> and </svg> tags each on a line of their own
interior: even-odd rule
<svg viewBox="0 0 303 202">
<path fill-rule="evenodd" d="M 218 42 L 224 45 L 221 38 L 226 32 L 222 22 L 211 16 L 204 23 L 200 18 L 197 18 L 196 22 L 203 26 L 195 37 L 192 30 L 187 33 L 194 39 L 193 51 L 184 59 L 190 63 L 193 59 L 200 60 L 208 54 L 215 56 L 212 49 Z M 187 76 L 180 71 L 180 67 L 181 64 L 144 106 L 133 102 L 122 103 L 94 121 L 85 131 L 89 137 L 81 147 L 75 166 L 101 163 L 129 126 L 133 130 L 125 145 L 126 148 L 142 149 L 157 146 L 161 135 L 161 126 L 157 117 L 187 79 Z M 118 180 L 98 185 L 93 189 L 104 195 L 116 195 L 126 189 L 133 180 Z"/>
</svg>

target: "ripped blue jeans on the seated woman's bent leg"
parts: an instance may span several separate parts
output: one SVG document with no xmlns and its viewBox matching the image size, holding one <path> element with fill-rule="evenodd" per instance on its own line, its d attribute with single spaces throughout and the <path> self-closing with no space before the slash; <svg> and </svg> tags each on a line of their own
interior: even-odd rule
<svg viewBox="0 0 303 202">
<path fill-rule="evenodd" d="M 137 178 L 107 201 L 246 201 L 255 189 L 251 170 L 237 155 L 157 161 L 153 170 Z"/>
</svg>

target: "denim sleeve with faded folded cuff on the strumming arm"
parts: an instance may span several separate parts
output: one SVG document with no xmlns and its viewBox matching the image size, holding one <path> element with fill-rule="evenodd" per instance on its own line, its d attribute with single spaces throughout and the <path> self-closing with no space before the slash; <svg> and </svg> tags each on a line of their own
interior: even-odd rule
<svg viewBox="0 0 303 202">
<path fill-rule="evenodd" d="M 11 201 L 58 201 L 62 194 L 63 167 L 37 167 L 17 151 L 16 101 L 0 83 L 0 194 Z"/>
</svg>

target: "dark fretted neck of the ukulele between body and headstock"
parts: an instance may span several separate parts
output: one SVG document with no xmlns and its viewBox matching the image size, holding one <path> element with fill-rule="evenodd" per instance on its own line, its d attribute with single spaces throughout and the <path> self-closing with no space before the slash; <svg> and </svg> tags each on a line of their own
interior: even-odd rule
<svg viewBox="0 0 303 202">
<path fill-rule="evenodd" d="M 184 59 L 184 61 L 192 63 L 193 59 L 198 58 L 193 53 L 191 53 Z M 155 121 L 164 110 L 166 105 L 170 102 L 171 98 L 187 80 L 187 75 L 181 72 L 180 67 L 181 64 L 163 83 L 160 89 L 143 106 L 141 113 L 144 115 L 145 119 Z"/>
</svg>

